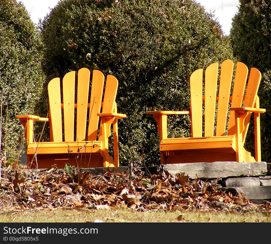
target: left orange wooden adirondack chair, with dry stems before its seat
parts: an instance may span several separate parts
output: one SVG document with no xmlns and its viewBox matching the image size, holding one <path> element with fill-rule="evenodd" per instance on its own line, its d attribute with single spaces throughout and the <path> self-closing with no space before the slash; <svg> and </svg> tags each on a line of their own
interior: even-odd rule
<svg viewBox="0 0 271 244">
<path fill-rule="evenodd" d="M 59 78 L 49 82 L 49 118 L 34 115 L 15 116 L 25 128 L 28 166 L 48 168 L 56 164 L 57 167 L 63 168 L 65 163 L 76 167 L 119 166 L 117 120 L 125 118 L 126 115 L 117 113 L 115 98 L 118 80 L 112 75 L 107 75 L 104 89 L 103 73 L 94 70 L 89 95 L 90 75 L 87 68 L 79 69 L 77 96 L 75 71 L 63 77 L 62 89 Z M 34 121 L 50 123 L 50 142 L 34 141 Z M 108 152 L 111 124 L 114 159 Z"/>
</svg>

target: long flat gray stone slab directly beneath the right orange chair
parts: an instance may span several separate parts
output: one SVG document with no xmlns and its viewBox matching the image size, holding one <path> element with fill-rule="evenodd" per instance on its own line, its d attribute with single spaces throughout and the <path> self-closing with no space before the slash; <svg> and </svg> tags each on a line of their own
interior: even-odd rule
<svg viewBox="0 0 271 244">
<path fill-rule="evenodd" d="M 183 173 L 195 179 L 216 179 L 234 176 L 259 176 L 266 175 L 266 162 L 237 163 L 237 162 L 214 162 L 214 163 L 174 163 L 164 164 L 171 175 Z"/>
</svg>

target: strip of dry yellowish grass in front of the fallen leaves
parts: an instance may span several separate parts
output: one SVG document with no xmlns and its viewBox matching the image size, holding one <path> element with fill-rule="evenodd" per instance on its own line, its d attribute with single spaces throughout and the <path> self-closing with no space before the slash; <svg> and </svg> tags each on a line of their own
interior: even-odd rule
<svg viewBox="0 0 271 244">
<path fill-rule="evenodd" d="M 131 209 L 81 208 L 34 209 L 2 212 L 0 222 L 271 222 L 270 213 L 260 211 L 136 211 Z"/>
</svg>

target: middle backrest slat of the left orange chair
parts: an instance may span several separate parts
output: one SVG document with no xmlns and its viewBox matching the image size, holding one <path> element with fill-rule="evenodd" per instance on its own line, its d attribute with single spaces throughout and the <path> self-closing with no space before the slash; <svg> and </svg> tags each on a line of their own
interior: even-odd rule
<svg viewBox="0 0 271 244">
<path fill-rule="evenodd" d="M 83 141 L 86 138 L 87 126 L 87 103 L 89 95 L 90 71 L 87 68 L 79 69 L 77 84 L 77 119 L 76 119 L 76 138 Z"/>
</svg>

